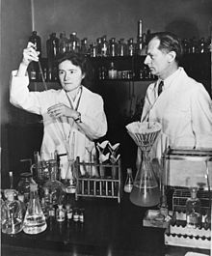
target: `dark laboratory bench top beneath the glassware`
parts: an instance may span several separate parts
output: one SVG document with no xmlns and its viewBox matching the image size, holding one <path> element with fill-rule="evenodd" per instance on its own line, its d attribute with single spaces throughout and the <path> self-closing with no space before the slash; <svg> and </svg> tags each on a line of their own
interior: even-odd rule
<svg viewBox="0 0 212 256">
<path fill-rule="evenodd" d="M 128 193 L 123 192 L 120 203 L 109 198 L 79 198 L 75 203 L 85 209 L 83 223 L 48 219 L 38 235 L 2 233 L 1 255 L 181 256 L 195 250 L 166 246 L 165 229 L 143 226 L 147 209 L 133 205 Z M 209 255 L 209 250 L 195 251 Z"/>
</svg>

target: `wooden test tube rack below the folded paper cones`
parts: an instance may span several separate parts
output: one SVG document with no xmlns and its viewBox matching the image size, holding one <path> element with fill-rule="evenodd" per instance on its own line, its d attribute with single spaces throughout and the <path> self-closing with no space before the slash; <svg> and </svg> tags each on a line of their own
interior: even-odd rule
<svg viewBox="0 0 212 256">
<path fill-rule="evenodd" d="M 120 158 L 116 164 L 81 162 L 76 158 L 76 193 L 75 197 L 98 197 L 117 199 L 121 197 Z M 99 176 L 81 175 L 82 169 L 95 168 Z M 102 171 L 103 170 L 103 171 Z M 103 173 L 103 174 L 102 174 Z"/>
</svg>

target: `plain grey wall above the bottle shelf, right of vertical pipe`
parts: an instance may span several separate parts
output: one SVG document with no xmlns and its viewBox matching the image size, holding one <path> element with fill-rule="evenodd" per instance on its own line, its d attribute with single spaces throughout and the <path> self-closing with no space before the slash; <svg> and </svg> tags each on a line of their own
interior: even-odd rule
<svg viewBox="0 0 212 256">
<path fill-rule="evenodd" d="M 140 18 L 144 32 L 169 30 L 182 38 L 208 37 L 212 26 L 211 0 L 34 0 L 34 10 L 43 51 L 51 32 L 76 31 L 91 42 L 102 35 L 136 39 Z"/>
</svg>

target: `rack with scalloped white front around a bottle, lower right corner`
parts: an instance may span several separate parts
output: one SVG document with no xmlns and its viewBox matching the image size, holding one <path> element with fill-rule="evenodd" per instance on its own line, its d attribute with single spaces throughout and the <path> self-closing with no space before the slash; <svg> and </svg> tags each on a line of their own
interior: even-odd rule
<svg viewBox="0 0 212 256">
<path fill-rule="evenodd" d="M 202 214 L 210 207 L 210 191 L 199 190 Z M 211 227 L 191 228 L 186 226 L 186 200 L 190 197 L 188 188 L 174 189 L 172 196 L 172 221 L 165 232 L 165 244 L 199 249 L 210 249 Z M 204 218 L 202 218 L 204 219 Z M 203 222 L 202 222 L 203 224 Z"/>
</svg>

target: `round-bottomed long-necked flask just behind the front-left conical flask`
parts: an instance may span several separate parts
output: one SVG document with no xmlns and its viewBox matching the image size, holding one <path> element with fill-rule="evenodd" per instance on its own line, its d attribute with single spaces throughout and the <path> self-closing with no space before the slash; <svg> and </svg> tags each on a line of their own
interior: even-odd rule
<svg viewBox="0 0 212 256">
<path fill-rule="evenodd" d="M 48 161 L 48 164 L 50 180 L 42 186 L 42 189 L 43 191 L 48 191 L 48 195 L 45 194 L 45 199 L 50 198 L 51 195 L 53 205 L 58 205 L 64 198 L 65 186 L 56 179 L 58 171 L 57 161 L 51 159 Z"/>
</svg>

